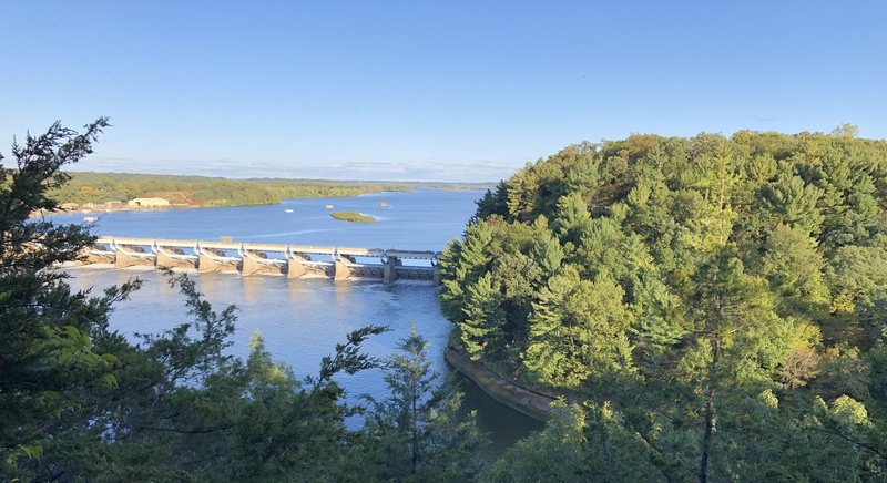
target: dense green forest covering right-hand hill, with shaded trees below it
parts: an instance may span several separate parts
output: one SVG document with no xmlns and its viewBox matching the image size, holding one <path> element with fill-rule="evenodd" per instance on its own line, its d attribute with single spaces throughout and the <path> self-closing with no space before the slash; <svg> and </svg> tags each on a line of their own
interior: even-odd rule
<svg viewBox="0 0 887 483">
<path fill-rule="evenodd" d="M 490 479 L 887 479 L 887 142 L 632 135 L 478 205 L 455 343 L 564 398 Z"/>
</svg>

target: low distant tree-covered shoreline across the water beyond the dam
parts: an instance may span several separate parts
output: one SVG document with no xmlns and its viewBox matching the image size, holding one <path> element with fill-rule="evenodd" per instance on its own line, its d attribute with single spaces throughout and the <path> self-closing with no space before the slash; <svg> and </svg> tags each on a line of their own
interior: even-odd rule
<svg viewBox="0 0 887 483">
<path fill-rule="evenodd" d="M 357 196 L 364 193 L 411 189 L 398 183 L 361 183 L 323 179 L 226 179 L 132 173 L 70 173 L 68 183 L 49 196 L 61 203 L 126 202 L 161 197 L 190 206 L 267 205 L 285 198 Z"/>
</svg>

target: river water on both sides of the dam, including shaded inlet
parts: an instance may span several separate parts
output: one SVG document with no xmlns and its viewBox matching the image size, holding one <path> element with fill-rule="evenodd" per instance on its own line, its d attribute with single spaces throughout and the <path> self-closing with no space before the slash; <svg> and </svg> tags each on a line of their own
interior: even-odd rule
<svg viewBox="0 0 887 483">
<path fill-rule="evenodd" d="M 119 212 L 101 215 L 99 235 L 217 239 L 235 242 L 332 245 L 364 248 L 442 250 L 461 235 L 475 212 L 480 192 L 381 193 L 350 198 L 288 199 L 279 205 L 236 208 L 167 209 Z M 387 203 L 379 207 L 378 203 Z M 335 210 L 356 210 L 379 218 L 378 223 L 353 224 L 329 217 L 325 205 Z M 286 213 L 285 209 L 293 209 Z M 53 216 L 57 223 L 81 223 L 83 214 Z M 94 215 L 89 215 L 94 216 Z M 116 306 L 111 321 L 124 333 L 164 329 L 185 321 L 183 299 L 169 286 L 163 274 L 153 269 L 108 269 L 96 266 L 72 268 L 75 288 L 100 289 L 137 276 L 143 288 L 131 300 Z M 450 369 L 443 361 L 443 347 L 451 325 L 440 312 L 437 288 L 428 282 L 397 280 L 340 280 L 314 278 L 287 280 L 282 276 L 241 277 L 237 274 L 195 276 L 200 290 L 216 310 L 234 304 L 238 323 L 232 352 L 245 356 L 254 332 L 265 338 L 266 349 L 276 360 L 293 367 L 298 377 L 314 374 L 322 357 L 332 353 L 345 335 L 367 323 L 387 325 L 390 331 L 371 338 L 365 349 L 384 357 L 395 352 L 397 340 L 415 323 L 431 346 L 432 368 L 441 377 Z M 338 381 L 349 400 L 360 394 L 384 397 L 386 388 L 379 371 L 344 376 Z M 469 380 L 461 378 L 466 410 L 476 410 L 481 430 L 492 440 L 498 453 L 517 439 L 541 425 L 510 408 L 499 404 Z"/>
</svg>

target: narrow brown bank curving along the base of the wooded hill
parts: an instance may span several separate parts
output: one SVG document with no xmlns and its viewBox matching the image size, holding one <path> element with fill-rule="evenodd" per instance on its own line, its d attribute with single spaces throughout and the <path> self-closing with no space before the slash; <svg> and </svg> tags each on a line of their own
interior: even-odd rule
<svg viewBox="0 0 887 483">
<path fill-rule="evenodd" d="M 481 362 L 469 359 L 468 354 L 447 345 L 443 358 L 457 371 L 472 380 L 490 398 L 526 414 L 537 421 L 544 422 L 551 414 L 551 403 L 555 398 L 516 386 L 487 369 Z"/>
</svg>

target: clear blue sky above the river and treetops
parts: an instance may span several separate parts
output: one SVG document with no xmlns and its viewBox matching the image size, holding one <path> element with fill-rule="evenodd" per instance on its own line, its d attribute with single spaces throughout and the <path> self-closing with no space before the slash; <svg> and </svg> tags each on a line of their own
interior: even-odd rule
<svg viewBox="0 0 887 483">
<path fill-rule="evenodd" d="M 887 2 L 0 0 L 0 151 L 78 168 L 495 181 L 583 140 L 887 137 Z"/>
</svg>

